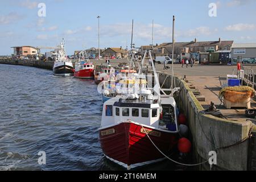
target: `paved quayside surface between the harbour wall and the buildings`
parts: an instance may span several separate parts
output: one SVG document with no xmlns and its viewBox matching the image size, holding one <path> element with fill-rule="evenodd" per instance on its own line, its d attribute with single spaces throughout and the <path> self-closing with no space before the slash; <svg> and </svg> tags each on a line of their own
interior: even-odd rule
<svg viewBox="0 0 256 182">
<path fill-rule="evenodd" d="M 171 74 L 171 69 L 164 70 L 162 67 L 163 65 L 156 65 L 158 71 Z M 249 68 L 255 69 L 256 66 Z M 212 101 L 226 118 L 233 121 L 246 121 L 249 118 L 245 117 L 245 107 L 226 109 L 218 98 L 221 85 L 226 81 L 226 75 L 232 75 L 233 71 L 236 75 L 236 69 L 236 66 L 230 65 L 194 65 L 192 68 L 185 68 L 185 65 L 184 68 L 181 68 L 181 65 L 174 65 L 175 75 L 182 77 L 185 75 L 189 83 L 200 90 L 201 96 L 205 96 L 205 101 L 200 102 L 204 109 L 208 109 Z M 255 98 L 251 99 L 251 109 L 256 109 Z M 256 124 L 256 120 L 252 119 L 251 121 Z"/>
</svg>

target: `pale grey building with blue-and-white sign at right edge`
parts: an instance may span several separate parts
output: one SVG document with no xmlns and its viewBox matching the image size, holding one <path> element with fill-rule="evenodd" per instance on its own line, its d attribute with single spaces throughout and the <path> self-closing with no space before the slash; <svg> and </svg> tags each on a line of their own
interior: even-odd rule
<svg viewBox="0 0 256 182">
<path fill-rule="evenodd" d="M 256 43 L 233 44 L 231 59 L 232 64 L 256 64 Z"/>
</svg>

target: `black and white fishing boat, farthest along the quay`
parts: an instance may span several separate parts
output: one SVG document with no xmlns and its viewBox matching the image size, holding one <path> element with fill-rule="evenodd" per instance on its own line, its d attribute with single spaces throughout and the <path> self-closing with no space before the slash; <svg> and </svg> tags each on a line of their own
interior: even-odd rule
<svg viewBox="0 0 256 182">
<path fill-rule="evenodd" d="M 57 50 L 56 59 L 53 65 L 53 75 L 72 76 L 74 75 L 73 63 L 65 55 L 64 39 L 61 42 L 60 49 Z"/>
</svg>

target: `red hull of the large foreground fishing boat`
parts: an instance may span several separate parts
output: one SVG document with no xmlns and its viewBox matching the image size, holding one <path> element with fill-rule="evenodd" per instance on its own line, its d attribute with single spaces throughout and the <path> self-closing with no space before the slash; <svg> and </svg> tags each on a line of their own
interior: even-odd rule
<svg viewBox="0 0 256 182">
<path fill-rule="evenodd" d="M 144 129 L 153 131 L 148 136 L 166 155 L 169 155 L 177 144 L 177 133 L 167 133 L 147 127 Z M 126 164 L 127 167 L 132 164 L 143 166 L 143 163 L 164 158 L 142 131 L 140 125 L 131 122 L 100 130 L 102 151 L 108 158 Z"/>
</svg>

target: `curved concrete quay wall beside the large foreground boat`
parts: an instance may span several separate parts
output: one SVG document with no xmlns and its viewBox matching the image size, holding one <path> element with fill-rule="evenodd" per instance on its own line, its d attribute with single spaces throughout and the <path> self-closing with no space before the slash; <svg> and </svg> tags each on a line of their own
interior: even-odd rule
<svg viewBox="0 0 256 182">
<path fill-rule="evenodd" d="M 171 75 L 159 73 L 159 81 L 160 85 L 164 83 L 163 88 L 170 88 Z M 210 151 L 217 151 L 217 165 L 214 165 L 212 170 L 255 170 L 255 168 L 250 168 L 252 164 L 256 165 L 255 137 L 251 139 L 254 141 L 253 144 L 249 144 L 250 140 L 236 144 L 249 135 L 253 124 L 251 122 L 230 121 L 200 113 L 204 109 L 194 96 L 193 90 L 189 88 L 189 83 L 182 78 L 175 77 L 175 84 L 176 87 L 180 87 L 177 105 L 181 113 L 186 115 L 191 132 L 189 138 L 192 140 L 194 163 L 205 162 L 210 157 Z M 236 145 L 230 146 L 233 144 Z M 225 146 L 230 147 L 222 148 Z M 252 157 L 250 158 L 250 156 Z M 197 166 L 197 169 L 210 170 L 210 165 L 204 163 Z"/>
</svg>

